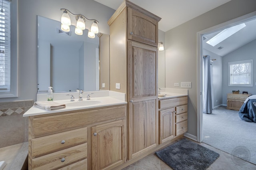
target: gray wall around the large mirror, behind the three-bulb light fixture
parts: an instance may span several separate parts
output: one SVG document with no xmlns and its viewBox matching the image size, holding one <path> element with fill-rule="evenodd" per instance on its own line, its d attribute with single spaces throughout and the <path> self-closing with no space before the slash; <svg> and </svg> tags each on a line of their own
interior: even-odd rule
<svg viewBox="0 0 256 170">
<path fill-rule="evenodd" d="M 99 21 L 99 31 L 109 34 L 107 24 L 115 10 L 94 0 L 19 0 L 18 2 L 18 97 L 2 101 L 33 99 L 37 93 L 37 15 L 60 21 L 67 8 L 75 14 Z M 75 21 L 71 21 L 75 24 Z M 86 25 L 86 28 L 90 25 Z"/>
</svg>

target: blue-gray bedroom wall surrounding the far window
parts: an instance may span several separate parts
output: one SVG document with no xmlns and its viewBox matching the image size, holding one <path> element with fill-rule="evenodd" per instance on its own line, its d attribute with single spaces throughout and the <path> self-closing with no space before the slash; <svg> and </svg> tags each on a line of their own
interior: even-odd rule
<svg viewBox="0 0 256 170">
<path fill-rule="evenodd" d="M 229 87 L 228 86 L 228 62 L 232 61 L 243 61 L 253 59 L 253 87 Z M 256 40 L 247 43 L 246 45 L 236 49 L 235 51 L 223 56 L 223 94 L 222 100 L 223 104 L 227 104 L 227 93 L 232 93 L 232 90 L 248 91 L 248 93 L 255 95 L 256 94 Z"/>
</svg>

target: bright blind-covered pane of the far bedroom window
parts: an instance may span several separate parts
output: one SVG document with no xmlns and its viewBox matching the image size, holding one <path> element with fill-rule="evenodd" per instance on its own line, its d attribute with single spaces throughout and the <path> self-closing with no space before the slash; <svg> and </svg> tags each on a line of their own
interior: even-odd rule
<svg viewBox="0 0 256 170">
<path fill-rule="evenodd" d="M 251 62 L 230 64 L 230 85 L 251 84 Z"/>
</svg>

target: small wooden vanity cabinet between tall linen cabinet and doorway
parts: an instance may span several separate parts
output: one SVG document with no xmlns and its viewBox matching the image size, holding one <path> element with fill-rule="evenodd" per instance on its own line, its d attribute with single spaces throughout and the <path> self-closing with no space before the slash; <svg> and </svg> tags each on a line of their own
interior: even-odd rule
<svg viewBox="0 0 256 170">
<path fill-rule="evenodd" d="M 188 131 L 188 97 L 159 101 L 159 143 Z"/>
</svg>

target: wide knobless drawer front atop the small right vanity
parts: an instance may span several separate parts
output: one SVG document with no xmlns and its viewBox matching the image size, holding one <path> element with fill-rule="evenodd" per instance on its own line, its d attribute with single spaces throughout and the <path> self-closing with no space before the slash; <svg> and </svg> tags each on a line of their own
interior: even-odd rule
<svg viewBox="0 0 256 170">
<path fill-rule="evenodd" d="M 175 107 L 178 105 L 186 105 L 186 104 L 188 104 L 188 97 L 160 100 L 159 109 Z"/>
</svg>

